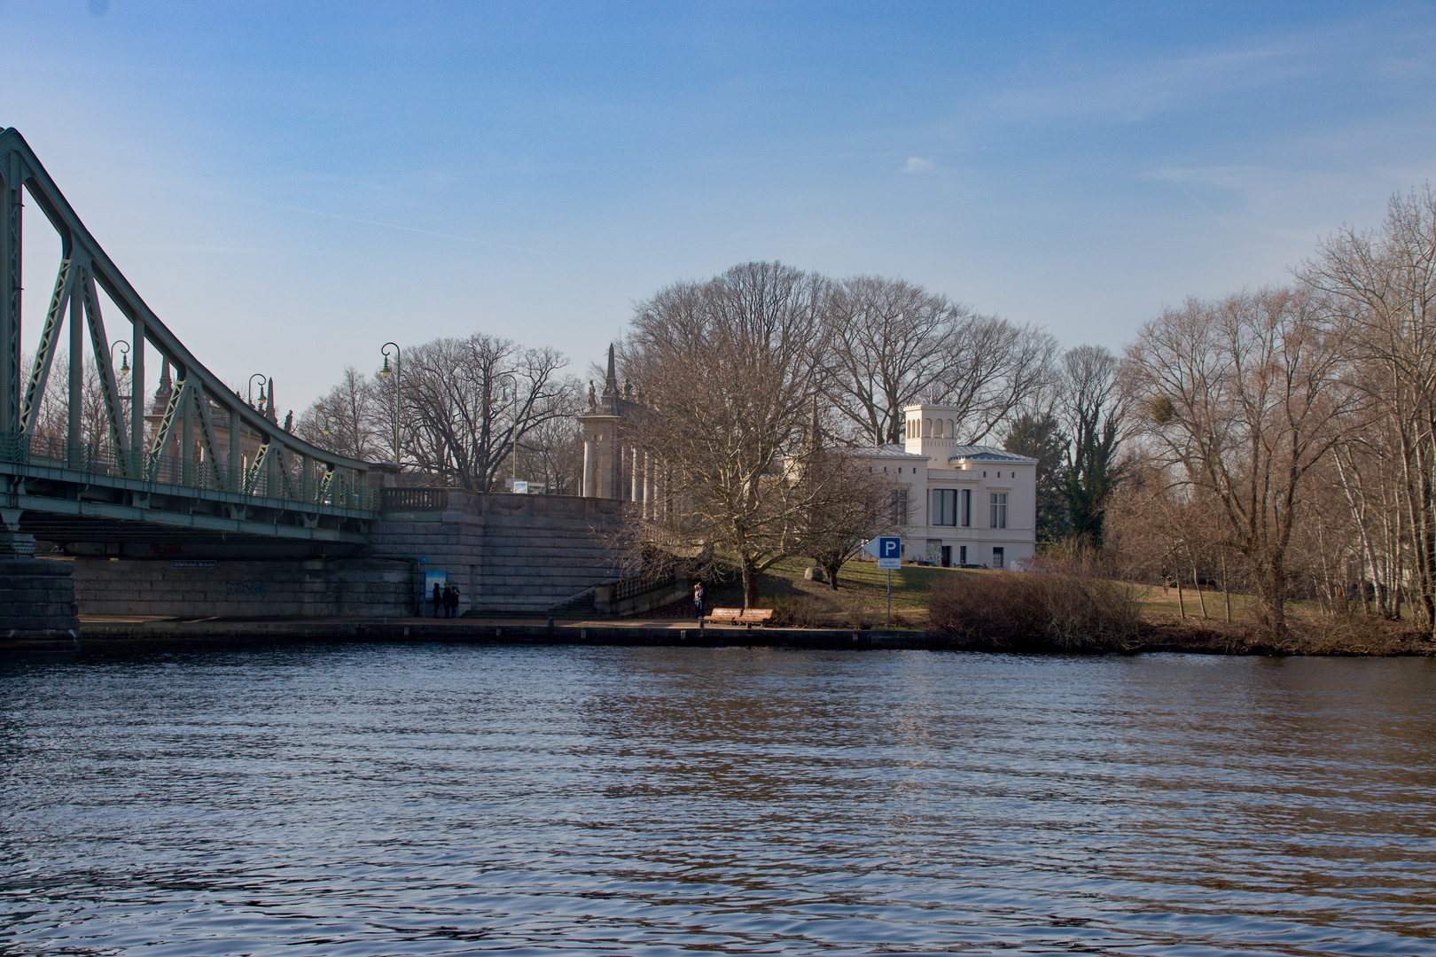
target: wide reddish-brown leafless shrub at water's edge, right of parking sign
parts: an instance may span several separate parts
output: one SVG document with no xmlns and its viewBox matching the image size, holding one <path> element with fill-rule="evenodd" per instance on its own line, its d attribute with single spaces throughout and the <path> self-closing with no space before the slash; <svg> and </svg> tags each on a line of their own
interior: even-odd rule
<svg viewBox="0 0 1436 957">
<path fill-rule="evenodd" d="M 928 627 L 974 647 L 1100 651 L 1130 647 L 1140 624 L 1122 583 L 1044 562 L 1038 571 L 939 578 Z"/>
</svg>

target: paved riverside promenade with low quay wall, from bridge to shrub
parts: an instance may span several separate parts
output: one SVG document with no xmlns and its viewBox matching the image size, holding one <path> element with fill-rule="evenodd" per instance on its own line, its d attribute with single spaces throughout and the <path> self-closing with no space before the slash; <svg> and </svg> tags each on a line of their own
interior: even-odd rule
<svg viewBox="0 0 1436 957">
<path fill-rule="evenodd" d="M 780 628 L 675 618 L 167 618 L 80 616 L 73 638 L 6 640 L 0 651 L 69 651 L 134 643 L 204 646 L 286 641 L 454 641 L 482 644 L 765 646 L 804 649 L 949 649 L 922 630 Z"/>
</svg>

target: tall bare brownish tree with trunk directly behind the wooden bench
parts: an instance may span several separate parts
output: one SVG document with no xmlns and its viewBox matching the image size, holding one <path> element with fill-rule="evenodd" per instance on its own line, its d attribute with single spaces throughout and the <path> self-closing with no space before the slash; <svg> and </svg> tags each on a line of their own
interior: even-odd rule
<svg viewBox="0 0 1436 957">
<path fill-rule="evenodd" d="M 744 605 L 793 554 L 814 502 L 801 465 L 807 410 L 830 362 L 827 283 L 778 263 L 676 283 L 638 306 L 626 369 L 646 410 L 633 442 L 662 463 L 666 502 L 635 517 L 640 547 L 731 557 Z"/>
</svg>

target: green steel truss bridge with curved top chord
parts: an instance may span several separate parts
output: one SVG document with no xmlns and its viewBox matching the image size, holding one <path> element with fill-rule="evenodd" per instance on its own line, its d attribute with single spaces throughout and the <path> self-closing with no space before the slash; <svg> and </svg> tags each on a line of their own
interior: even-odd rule
<svg viewBox="0 0 1436 957">
<path fill-rule="evenodd" d="M 22 238 L 26 225 L 42 224 L 33 215 L 26 222 L 27 205 L 45 215 L 62 248 L 29 369 L 20 353 Z M 119 316 L 101 314 L 96 288 Z M 112 367 L 115 326 L 128 333 L 131 395 L 122 395 L 123 377 Z M 205 369 L 125 280 L 14 129 L 0 132 L 0 521 L 7 539 L 34 535 L 89 554 L 271 544 L 316 557 L 366 541 L 379 506 L 370 465 L 290 435 Z M 66 339 L 67 418 L 63 429 L 52 423 L 45 433 L 42 400 Z M 82 419 L 86 359 L 99 373 L 103 406 L 103 422 L 96 428 L 92 415 L 89 435 Z M 145 369 L 154 362 L 164 374 L 146 413 Z"/>
</svg>

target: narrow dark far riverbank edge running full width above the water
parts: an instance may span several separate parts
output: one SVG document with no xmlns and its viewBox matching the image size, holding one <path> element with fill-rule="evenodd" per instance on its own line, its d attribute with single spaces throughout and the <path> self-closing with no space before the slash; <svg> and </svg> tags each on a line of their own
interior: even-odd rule
<svg viewBox="0 0 1436 957">
<path fill-rule="evenodd" d="M 129 646 L 211 646 L 236 643 L 389 643 L 449 641 L 464 644 L 572 644 L 572 646 L 694 646 L 694 647 L 797 647 L 824 650 L 920 650 L 1024 654 L 1222 654 L 1222 656 L 1323 656 L 1323 657 L 1432 657 L 1436 643 L 1410 640 L 1383 647 L 1271 647 L 1234 634 L 1152 624 L 1143 636 L 1120 649 L 1014 649 L 972 638 L 952 638 L 909 628 L 741 628 L 681 624 L 622 624 L 596 621 L 462 618 L 307 618 L 281 621 L 122 621 L 82 623 L 76 633 L 0 636 L 0 653 L 79 651 Z"/>
</svg>

